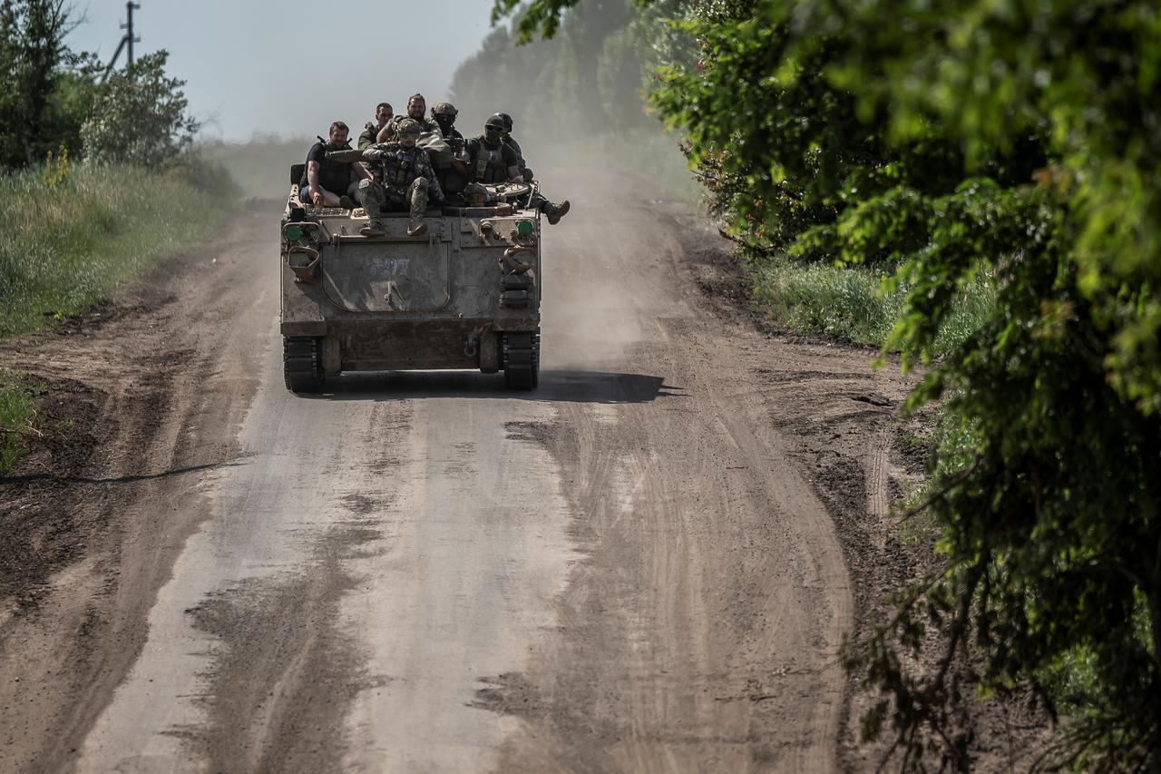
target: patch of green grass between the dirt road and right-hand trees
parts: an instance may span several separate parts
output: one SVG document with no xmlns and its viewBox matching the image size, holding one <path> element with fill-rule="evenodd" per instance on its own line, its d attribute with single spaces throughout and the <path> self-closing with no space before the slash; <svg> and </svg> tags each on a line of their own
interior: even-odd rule
<svg viewBox="0 0 1161 774">
<path fill-rule="evenodd" d="M 881 346 L 903 307 L 902 289 L 882 292 L 885 274 L 865 266 L 798 264 L 774 258 L 750 267 L 753 299 L 796 332 Z M 994 287 L 980 280 L 956 300 L 935 343 L 937 357 L 967 338 L 991 314 Z"/>
</svg>

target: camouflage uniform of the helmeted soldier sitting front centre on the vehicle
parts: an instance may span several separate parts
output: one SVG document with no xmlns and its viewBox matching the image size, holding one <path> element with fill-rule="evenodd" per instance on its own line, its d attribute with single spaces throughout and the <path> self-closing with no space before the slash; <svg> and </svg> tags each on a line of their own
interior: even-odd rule
<svg viewBox="0 0 1161 774">
<path fill-rule="evenodd" d="M 374 180 L 360 181 L 359 198 L 374 227 L 382 228 L 384 209 L 396 208 L 406 208 L 414 227 L 427 209 L 428 198 L 444 201 L 444 191 L 423 148 L 385 142 L 362 151 L 362 159 L 370 163 Z"/>
</svg>

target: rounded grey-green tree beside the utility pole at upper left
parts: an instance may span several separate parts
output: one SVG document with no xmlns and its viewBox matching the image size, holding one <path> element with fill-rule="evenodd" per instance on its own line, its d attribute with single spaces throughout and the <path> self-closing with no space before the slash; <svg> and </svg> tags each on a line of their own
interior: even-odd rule
<svg viewBox="0 0 1161 774">
<path fill-rule="evenodd" d="M 87 159 L 159 167 L 193 145 L 200 124 L 186 112 L 186 81 L 165 76 L 168 56 L 150 53 L 110 73 L 81 129 Z"/>
</svg>

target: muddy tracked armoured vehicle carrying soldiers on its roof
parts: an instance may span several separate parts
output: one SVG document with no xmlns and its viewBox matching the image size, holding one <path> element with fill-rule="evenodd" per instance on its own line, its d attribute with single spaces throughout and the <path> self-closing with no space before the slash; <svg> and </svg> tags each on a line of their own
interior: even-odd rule
<svg viewBox="0 0 1161 774">
<path fill-rule="evenodd" d="M 362 209 L 298 196 L 291 167 L 282 216 L 282 338 L 287 388 L 316 393 L 342 372 L 478 368 L 534 389 L 540 372 L 540 213 L 532 186 L 486 186 L 482 202 L 408 214 L 359 234 Z"/>
</svg>

